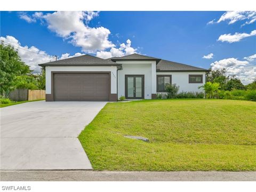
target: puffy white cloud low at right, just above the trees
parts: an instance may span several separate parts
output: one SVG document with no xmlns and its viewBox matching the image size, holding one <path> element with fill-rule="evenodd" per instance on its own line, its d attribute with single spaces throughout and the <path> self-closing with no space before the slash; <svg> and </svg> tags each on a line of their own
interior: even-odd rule
<svg viewBox="0 0 256 192">
<path fill-rule="evenodd" d="M 243 84 L 253 82 L 256 77 L 256 66 L 249 61 L 240 61 L 235 58 L 222 59 L 211 63 L 212 70 L 226 69 L 226 74 L 229 76 L 235 75 Z"/>
</svg>

